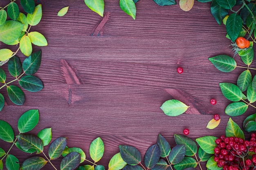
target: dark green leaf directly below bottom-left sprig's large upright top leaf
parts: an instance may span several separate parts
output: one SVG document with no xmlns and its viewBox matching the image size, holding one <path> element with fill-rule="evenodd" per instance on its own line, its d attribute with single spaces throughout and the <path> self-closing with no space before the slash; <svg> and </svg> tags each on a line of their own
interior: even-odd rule
<svg viewBox="0 0 256 170">
<path fill-rule="evenodd" d="M 36 154 L 43 152 L 43 142 L 36 135 L 20 134 L 16 137 L 22 149 L 26 151 L 28 151 L 29 149 L 34 149 L 34 152 L 36 152 Z"/>
</svg>

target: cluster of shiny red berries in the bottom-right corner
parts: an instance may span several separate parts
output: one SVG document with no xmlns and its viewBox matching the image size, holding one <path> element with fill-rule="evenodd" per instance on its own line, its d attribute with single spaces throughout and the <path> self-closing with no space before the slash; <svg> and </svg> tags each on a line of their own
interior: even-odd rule
<svg viewBox="0 0 256 170">
<path fill-rule="evenodd" d="M 256 134 L 252 133 L 250 141 L 239 137 L 222 135 L 215 140 L 214 161 L 223 170 L 256 170 L 256 154 L 249 157 L 249 152 L 256 153 Z"/>
</svg>

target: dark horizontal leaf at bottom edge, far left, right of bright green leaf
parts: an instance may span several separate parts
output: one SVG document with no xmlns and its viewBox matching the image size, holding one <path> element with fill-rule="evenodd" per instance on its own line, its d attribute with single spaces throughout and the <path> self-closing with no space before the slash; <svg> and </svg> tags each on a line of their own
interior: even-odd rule
<svg viewBox="0 0 256 170">
<path fill-rule="evenodd" d="M 26 159 L 22 165 L 20 166 L 21 170 L 40 170 L 43 168 L 46 163 L 46 161 L 43 157 L 30 157 L 29 159 Z"/>
</svg>

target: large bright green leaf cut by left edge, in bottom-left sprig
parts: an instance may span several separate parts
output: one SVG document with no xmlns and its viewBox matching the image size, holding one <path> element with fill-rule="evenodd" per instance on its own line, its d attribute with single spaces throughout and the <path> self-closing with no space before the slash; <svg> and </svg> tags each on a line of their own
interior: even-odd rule
<svg viewBox="0 0 256 170">
<path fill-rule="evenodd" d="M 14 133 L 11 125 L 4 120 L 0 120 L 0 139 L 5 142 L 13 142 Z"/>
</svg>

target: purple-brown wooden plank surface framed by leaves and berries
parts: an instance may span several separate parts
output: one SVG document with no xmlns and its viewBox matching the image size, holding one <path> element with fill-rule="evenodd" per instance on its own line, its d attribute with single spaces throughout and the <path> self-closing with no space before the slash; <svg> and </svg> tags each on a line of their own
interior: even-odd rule
<svg viewBox="0 0 256 170">
<path fill-rule="evenodd" d="M 7 3 L 1 0 L 0 6 Z M 9 122 L 16 135 L 21 114 L 39 109 L 40 120 L 31 133 L 52 127 L 53 139 L 68 137 L 67 146 L 82 148 L 89 160 L 90 143 L 101 137 L 105 153 L 99 164 L 108 168 L 110 158 L 119 152 L 119 144 L 135 146 L 144 157 L 159 133 L 172 147 L 173 134 L 182 134 L 184 128 L 190 129 L 193 139 L 225 134 L 229 116 L 224 110 L 230 101 L 222 96 L 218 83 L 236 83 L 244 69 L 223 73 L 208 60 L 218 54 L 233 55 L 225 26 L 218 25 L 211 15 L 210 3 L 195 1 L 191 11 L 184 12 L 178 0 L 177 5 L 166 7 L 153 0 L 139 0 L 136 20 L 120 9 L 118 0 L 105 0 L 103 18 L 88 9 L 83 0 L 39 3 L 43 17 L 31 31 L 42 33 L 48 41 L 46 47 L 33 48 L 42 50 L 36 76 L 43 81 L 44 89 L 25 92 L 23 106 L 14 105 L 6 89 L 0 91 L 6 99 L 0 119 Z M 58 11 L 66 6 L 70 6 L 68 13 L 58 17 Z M 10 47 L 1 43 L 0 48 Z M 20 52 L 18 56 L 25 59 Z M 239 57 L 235 59 L 243 65 Z M 177 73 L 179 66 L 184 73 Z M 2 68 L 7 70 L 7 65 Z M 211 98 L 217 100 L 216 105 L 210 104 Z M 181 116 L 166 116 L 160 106 L 169 99 L 191 107 Z M 220 125 L 209 130 L 206 125 L 215 113 L 220 114 Z M 233 120 L 242 127 L 245 117 L 252 113 L 255 111 L 250 107 Z M 0 141 L 0 146 L 8 150 L 10 144 Z M 30 156 L 16 148 L 11 154 L 20 162 Z M 53 163 L 59 167 L 60 161 Z M 43 169 L 52 166 L 47 164 Z"/>
</svg>

